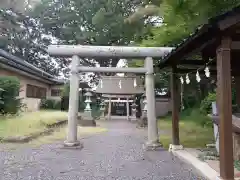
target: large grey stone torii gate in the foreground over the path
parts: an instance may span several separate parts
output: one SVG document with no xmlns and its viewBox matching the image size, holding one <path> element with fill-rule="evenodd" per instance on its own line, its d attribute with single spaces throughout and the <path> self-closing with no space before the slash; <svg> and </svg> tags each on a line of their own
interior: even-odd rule
<svg viewBox="0 0 240 180">
<path fill-rule="evenodd" d="M 154 68 L 153 59 L 161 58 L 171 52 L 171 47 L 124 47 L 124 46 L 82 46 L 82 45 L 50 45 L 48 53 L 58 57 L 72 57 L 70 76 L 70 97 L 68 111 L 68 132 L 64 145 L 67 147 L 82 146 L 77 139 L 77 115 L 79 98 L 79 77 L 81 72 L 115 72 L 115 73 L 145 73 L 145 88 L 147 100 L 148 140 L 146 149 L 156 149 L 160 146 L 155 109 Z M 79 58 L 144 58 L 143 68 L 117 67 L 84 67 Z"/>
</svg>

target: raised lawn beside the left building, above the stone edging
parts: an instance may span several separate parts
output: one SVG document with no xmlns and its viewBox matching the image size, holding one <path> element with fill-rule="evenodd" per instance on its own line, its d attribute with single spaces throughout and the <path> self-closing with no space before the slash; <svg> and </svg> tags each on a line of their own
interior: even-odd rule
<svg viewBox="0 0 240 180">
<path fill-rule="evenodd" d="M 18 116 L 0 117 L 0 137 L 23 136 L 40 132 L 59 120 L 66 120 L 67 112 L 38 111 Z"/>
</svg>

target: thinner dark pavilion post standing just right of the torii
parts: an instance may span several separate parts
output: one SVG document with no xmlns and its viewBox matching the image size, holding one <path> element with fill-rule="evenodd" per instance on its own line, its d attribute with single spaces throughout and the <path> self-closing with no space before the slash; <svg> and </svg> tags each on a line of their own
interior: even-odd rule
<svg viewBox="0 0 240 180">
<path fill-rule="evenodd" d="M 172 98 L 172 144 L 180 145 L 179 141 L 179 79 L 177 78 L 176 68 L 172 68 L 171 74 L 171 98 Z"/>
</svg>

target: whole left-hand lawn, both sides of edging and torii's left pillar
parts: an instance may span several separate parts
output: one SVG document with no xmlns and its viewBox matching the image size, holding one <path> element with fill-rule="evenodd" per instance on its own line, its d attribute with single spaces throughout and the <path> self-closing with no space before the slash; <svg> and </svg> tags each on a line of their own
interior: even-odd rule
<svg viewBox="0 0 240 180">
<path fill-rule="evenodd" d="M 0 117 L 0 137 L 29 135 L 46 129 L 47 125 L 66 119 L 67 112 L 61 111 L 38 111 L 23 113 L 19 116 Z M 81 139 L 106 131 L 107 129 L 102 127 L 78 127 L 78 136 Z M 60 126 L 52 134 L 40 136 L 28 143 L 5 143 L 4 147 L 7 150 L 14 150 L 25 146 L 38 147 L 43 144 L 56 143 L 57 141 L 64 141 L 67 136 L 66 133 L 67 127 Z"/>
</svg>

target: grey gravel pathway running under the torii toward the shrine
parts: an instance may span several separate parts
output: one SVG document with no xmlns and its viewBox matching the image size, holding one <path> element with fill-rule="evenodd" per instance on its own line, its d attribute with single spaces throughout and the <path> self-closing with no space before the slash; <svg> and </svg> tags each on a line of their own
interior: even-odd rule
<svg viewBox="0 0 240 180">
<path fill-rule="evenodd" d="M 145 152 L 145 131 L 126 121 L 101 123 L 82 150 L 59 144 L 0 152 L 4 180 L 196 180 L 198 172 L 165 150 Z"/>
</svg>

